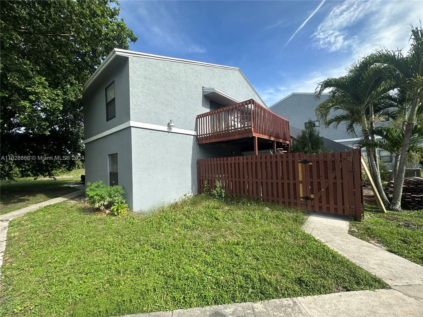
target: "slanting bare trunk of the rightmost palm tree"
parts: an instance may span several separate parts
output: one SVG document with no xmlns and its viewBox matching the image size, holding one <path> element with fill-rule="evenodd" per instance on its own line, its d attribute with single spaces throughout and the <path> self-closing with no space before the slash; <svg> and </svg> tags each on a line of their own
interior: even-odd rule
<svg viewBox="0 0 423 317">
<path fill-rule="evenodd" d="M 401 196 L 402 186 L 404 185 L 405 168 L 407 163 L 407 151 L 410 144 L 414 120 L 416 119 L 417 114 L 417 106 L 419 103 L 418 93 L 419 89 L 416 89 L 411 109 L 407 118 L 407 125 L 405 126 L 404 139 L 402 141 L 401 154 L 398 162 L 398 172 L 394 181 L 394 192 L 392 195 L 390 209 L 396 211 L 401 211 Z"/>
</svg>

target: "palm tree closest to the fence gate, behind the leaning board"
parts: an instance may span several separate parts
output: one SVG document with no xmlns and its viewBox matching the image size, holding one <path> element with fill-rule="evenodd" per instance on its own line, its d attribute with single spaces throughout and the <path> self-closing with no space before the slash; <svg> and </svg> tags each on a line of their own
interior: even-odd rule
<svg viewBox="0 0 423 317">
<path fill-rule="evenodd" d="M 365 148 L 377 191 L 384 205 L 389 206 L 367 130 L 374 121 L 375 114 L 383 114 L 388 111 L 388 107 L 392 107 L 392 104 L 387 102 L 387 93 L 394 87 L 386 80 L 390 69 L 376 65 L 373 59 L 372 55 L 365 57 L 354 63 L 346 76 L 328 78 L 320 82 L 316 87 L 316 100 L 319 100 L 324 90 L 331 90 L 329 98 L 316 107 L 316 116 L 326 127 L 333 124 L 337 128 L 339 124 L 345 124 L 346 131 L 351 136 L 357 136 L 354 127 L 360 126 L 361 134 L 365 135 L 365 141 L 369 144 Z M 332 117 L 331 112 L 335 112 Z"/>
</svg>

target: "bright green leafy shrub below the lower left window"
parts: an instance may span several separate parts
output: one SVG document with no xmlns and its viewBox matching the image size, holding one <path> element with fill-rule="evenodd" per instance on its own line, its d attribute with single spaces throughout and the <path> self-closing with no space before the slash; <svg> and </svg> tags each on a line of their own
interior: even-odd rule
<svg viewBox="0 0 423 317">
<path fill-rule="evenodd" d="M 85 201 L 90 207 L 103 210 L 115 202 L 124 201 L 124 192 L 123 186 L 108 186 L 101 180 L 92 184 L 88 182 Z"/>
</svg>

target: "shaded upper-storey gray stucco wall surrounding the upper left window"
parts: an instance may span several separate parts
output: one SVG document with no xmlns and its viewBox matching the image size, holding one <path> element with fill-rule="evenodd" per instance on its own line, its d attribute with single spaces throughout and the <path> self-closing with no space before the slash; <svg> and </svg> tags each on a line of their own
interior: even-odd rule
<svg viewBox="0 0 423 317">
<path fill-rule="evenodd" d="M 115 81 L 116 117 L 106 121 L 105 88 Z M 129 61 L 116 57 L 84 93 L 84 139 L 129 121 Z"/>
</svg>

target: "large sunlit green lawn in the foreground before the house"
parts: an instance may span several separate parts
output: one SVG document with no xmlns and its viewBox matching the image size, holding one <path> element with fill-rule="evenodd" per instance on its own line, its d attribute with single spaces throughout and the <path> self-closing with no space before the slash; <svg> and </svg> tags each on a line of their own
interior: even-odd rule
<svg viewBox="0 0 423 317">
<path fill-rule="evenodd" d="M 66 201 L 9 224 L 4 316 L 114 316 L 387 288 L 303 232 L 302 211 L 197 195 L 121 218 Z"/>
</svg>

